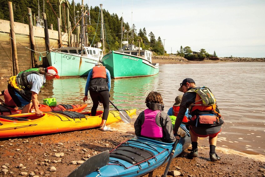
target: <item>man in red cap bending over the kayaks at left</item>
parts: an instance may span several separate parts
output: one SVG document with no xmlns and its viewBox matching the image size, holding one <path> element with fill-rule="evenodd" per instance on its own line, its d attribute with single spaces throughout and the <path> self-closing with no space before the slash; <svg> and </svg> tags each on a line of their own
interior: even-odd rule
<svg viewBox="0 0 265 177">
<path fill-rule="evenodd" d="M 38 94 L 46 80 L 60 78 L 55 67 L 31 68 L 14 75 L 8 80 L 8 92 L 17 107 L 25 106 L 21 113 L 29 112 L 32 107 L 38 116 L 42 116 L 39 110 Z"/>
</svg>

